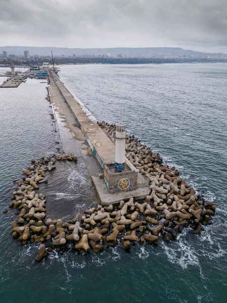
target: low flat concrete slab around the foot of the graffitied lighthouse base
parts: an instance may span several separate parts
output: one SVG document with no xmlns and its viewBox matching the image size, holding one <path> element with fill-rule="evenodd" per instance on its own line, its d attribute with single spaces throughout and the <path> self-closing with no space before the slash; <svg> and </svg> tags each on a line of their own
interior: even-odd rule
<svg viewBox="0 0 227 303">
<path fill-rule="evenodd" d="M 141 177 L 141 178 L 140 178 Z M 119 191 L 118 193 L 109 193 L 103 179 L 99 177 L 91 177 L 94 183 L 95 189 L 98 194 L 99 201 L 101 205 L 108 206 L 110 204 L 119 204 L 121 200 L 129 199 L 131 197 L 134 200 L 145 199 L 150 193 L 147 182 L 144 182 L 144 178 L 140 175 L 138 178 L 138 187 L 131 191 Z"/>
</svg>

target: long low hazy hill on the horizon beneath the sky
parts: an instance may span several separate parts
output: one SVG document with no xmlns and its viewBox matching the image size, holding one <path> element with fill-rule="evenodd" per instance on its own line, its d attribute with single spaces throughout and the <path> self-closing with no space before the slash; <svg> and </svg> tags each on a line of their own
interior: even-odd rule
<svg viewBox="0 0 227 303">
<path fill-rule="evenodd" d="M 127 57 L 141 57 L 141 56 L 151 56 L 151 57 L 184 57 L 184 56 L 196 56 L 197 58 L 202 57 L 220 57 L 227 58 L 225 54 L 209 54 L 202 52 L 195 52 L 190 50 L 185 50 L 180 47 L 114 47 L 114 48 L 67 48 L 67 47 L 33 47 L 33 46 L 0 46 L 0 53 L 6 51 L 13 55 L 23 55 L 24 51 L 29 51 L 31 55 L 38 56 L 50 56 L 51 51 L 55 56 L 96 56 L 96 55 L 106 55 L 122 56 Z"/>
</svg>

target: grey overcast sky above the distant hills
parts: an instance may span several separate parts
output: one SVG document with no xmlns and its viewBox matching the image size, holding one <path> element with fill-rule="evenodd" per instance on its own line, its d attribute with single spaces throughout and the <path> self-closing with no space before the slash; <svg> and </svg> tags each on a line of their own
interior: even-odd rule
<svg viewBox="0 0 227 303">
<path fill-rule="evenodd" d="M 227 53 L 226 0 L 0 0 L 0 46 Z"/>
</svg>

